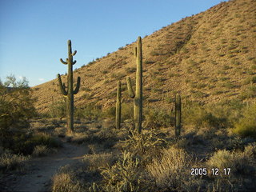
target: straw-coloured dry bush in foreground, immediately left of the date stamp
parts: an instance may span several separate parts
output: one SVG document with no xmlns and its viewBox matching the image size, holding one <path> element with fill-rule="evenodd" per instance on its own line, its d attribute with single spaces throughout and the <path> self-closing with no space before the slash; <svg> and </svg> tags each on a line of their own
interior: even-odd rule
<svg viewBox="0 0 256 192">
<path fill-rule="evenodd" d="M 187 154 L 185 150 L 171 146 L 169 149 L 162 150 L 162 155 L 154 158 L 146 166 L 146 170 L 154 178 L 160 189 L 193 191 L 188 175 L 190 175 L 189 171 L 194 163 L 194 158 Z M 190 190 L 187 190 L 186 187 L 190 187 Z"/>
</svg>

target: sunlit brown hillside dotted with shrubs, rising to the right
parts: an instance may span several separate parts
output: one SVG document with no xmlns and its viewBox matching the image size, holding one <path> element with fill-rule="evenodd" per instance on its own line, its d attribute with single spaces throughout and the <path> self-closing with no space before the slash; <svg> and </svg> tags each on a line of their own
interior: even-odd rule
<svg viewBox="0 0 256 192">
<path fill-rule="evenodd" d="M 145 105 L 171 107 L 175 93 L 184 100 L 203 103 L 255 98 L 255 13 L 255 0 L 222 2 L 142 38 Z M 135 79 L 133 49 L 134 42 L 126 44 L 75 70 L 74 83 L 78 76 L 82 78 L 75 105 L 94 102 L 103 109 L 114 106 L 118 80 L 124 102 L 131 102 L 126 77 Z M 78 54 L 83 53 L 78 50 Z M 62 81 L 66 82 L 66 75 Z M 63 98 L 57 78 L 33 90 L 39 112 L 47 112 L 48 106 Z"/>
</svg>

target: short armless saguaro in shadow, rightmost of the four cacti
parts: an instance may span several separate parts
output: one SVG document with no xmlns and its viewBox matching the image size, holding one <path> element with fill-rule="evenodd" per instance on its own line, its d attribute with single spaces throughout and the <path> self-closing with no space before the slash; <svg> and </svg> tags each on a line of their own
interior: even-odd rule
<svg viewBox="0 0 256 192">
<path fill-rule="evenodd" d="M 179 94 L 175 98 L 175 136 L 178 138 L 182 128 L 182 99 Z"/>
</svg>

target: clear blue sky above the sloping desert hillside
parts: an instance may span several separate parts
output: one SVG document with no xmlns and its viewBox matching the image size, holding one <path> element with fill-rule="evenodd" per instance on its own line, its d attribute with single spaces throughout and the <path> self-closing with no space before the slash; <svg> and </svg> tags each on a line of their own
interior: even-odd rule
<svg viewBox="0 0 256 192">
<path fill-rule="evenodd" d="M 220 0 L 0 0 L 0 78 L 30 86 L 65 74 L 71 39 L 74 68 L 101 58 Z"/>
</svg>

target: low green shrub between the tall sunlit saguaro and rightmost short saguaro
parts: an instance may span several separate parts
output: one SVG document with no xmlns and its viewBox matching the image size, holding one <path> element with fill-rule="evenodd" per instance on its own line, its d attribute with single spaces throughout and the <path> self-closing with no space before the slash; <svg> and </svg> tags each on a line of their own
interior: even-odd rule
<svg viewBox="0 0 256 192">
<path fill-rule="evenodd" d="M 151 128 L 168 127 L 174 125 L 174 116 L 166 110 L 148 109 L 145 111 L 145 121 L 146 125 Z"/>
</svg>

